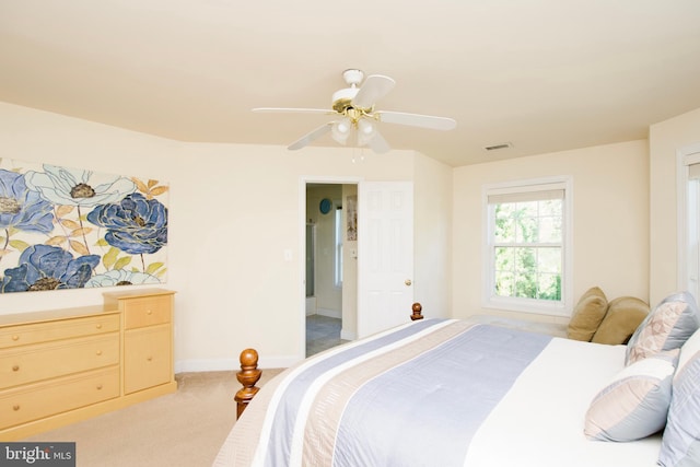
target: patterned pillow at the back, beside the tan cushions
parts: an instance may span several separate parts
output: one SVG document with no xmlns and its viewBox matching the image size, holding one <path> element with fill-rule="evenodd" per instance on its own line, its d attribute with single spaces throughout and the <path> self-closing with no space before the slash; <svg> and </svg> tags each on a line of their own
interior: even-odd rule
<svg viewBox="0 0 700 467">
<path fill-rule="evenodd" d="M 700 328 L 700 314 L 695 299 L 680 292 L 664 299 L 644 318 L 627 346 L 625 364 L 663 350 L 679 349 Z"/>
</svg>

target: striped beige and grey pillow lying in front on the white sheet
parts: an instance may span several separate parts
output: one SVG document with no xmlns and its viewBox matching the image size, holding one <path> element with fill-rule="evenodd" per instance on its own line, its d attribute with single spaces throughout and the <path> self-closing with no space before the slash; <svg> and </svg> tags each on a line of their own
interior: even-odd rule
<svg viewBox="0 0 700 467">
<path fill-rule="evenodd" d="M 660 352 L 622 369 L 591 402 L 583 430 L 586 437 L 634 441 L 661 431 L 679 352 Z"/>
</svg>

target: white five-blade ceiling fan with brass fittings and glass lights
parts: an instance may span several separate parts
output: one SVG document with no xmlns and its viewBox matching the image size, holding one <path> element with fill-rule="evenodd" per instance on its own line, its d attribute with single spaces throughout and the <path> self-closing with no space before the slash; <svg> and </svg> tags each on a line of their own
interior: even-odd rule
<svg viewBox="0 0 700 467">
<path fill-rule="evenodd" d="M 348 87 L 332 94 L 332 109 L 257 107 L 253 112 L 334 116 L 332 120 L 291 143 L 288 149 L 292 151 L 302 149 L 315 139 L 330 132 L 332 139 L 340 144 L 366 145 L 374 152 L 384 153 L 390 148 L 377 129 L 378 122 L 408 125 L 433 130 L 452 130 L 457 126 L 453 118 L 447 117 L 375 110 L 376 101 L 388 94 L 396 84 L 389 77 L 371 74 L 364 79 L 363 71 L 349 69 L 342 72 L 342 78 Z"/>
</svg>

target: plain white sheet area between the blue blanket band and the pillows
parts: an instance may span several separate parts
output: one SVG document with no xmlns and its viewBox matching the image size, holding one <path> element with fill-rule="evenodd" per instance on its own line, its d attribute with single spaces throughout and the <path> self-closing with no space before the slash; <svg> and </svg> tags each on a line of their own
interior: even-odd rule
<svg viewBox="0 0 700 467">
<path fill-rule="evenodd" d="M 656 466 L 660 434 L 631 443 L 583 435 L 588 402 L 622 369 L 626 349 L 555 338 L 481 425 L 465 466 Z"/>
</svg>

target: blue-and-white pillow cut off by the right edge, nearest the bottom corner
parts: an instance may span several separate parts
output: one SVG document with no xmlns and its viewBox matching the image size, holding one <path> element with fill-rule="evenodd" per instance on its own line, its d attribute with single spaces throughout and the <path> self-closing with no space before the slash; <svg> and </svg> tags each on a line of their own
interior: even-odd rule
<svg viewBox="0 0 700 467">
<path fill-rule="evenodd" d="M 658 464 L 700 466 L 700 330 L 680 349 Z"/>
</svg>

